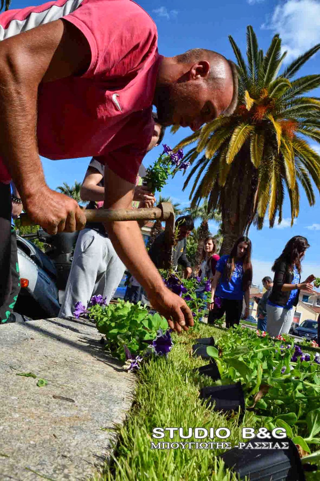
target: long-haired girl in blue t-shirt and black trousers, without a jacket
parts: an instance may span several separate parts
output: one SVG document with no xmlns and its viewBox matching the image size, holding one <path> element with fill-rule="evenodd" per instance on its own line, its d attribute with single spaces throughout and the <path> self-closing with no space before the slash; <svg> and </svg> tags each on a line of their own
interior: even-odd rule
<svg viewBox="0 0 320 481">
<path fill-rule="evenodd" d="M 225 313 L 226 327 L 239 324 L 243 298 L 245 317 L 249 315 L 250 285 L 252 282 L 252 244 L 248 237 L 240 237 L 230 255 L 223 255 L 217 263 L 211 284 L 208 324 L 214 324 Z"/>
</svg>

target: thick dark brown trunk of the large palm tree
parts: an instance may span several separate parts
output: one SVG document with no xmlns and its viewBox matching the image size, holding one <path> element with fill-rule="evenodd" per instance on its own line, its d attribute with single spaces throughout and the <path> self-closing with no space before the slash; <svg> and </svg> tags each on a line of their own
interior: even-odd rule
<svg viewBox="0 0 320 481">
<path fill-rule="evenodd" d="M 248 149 L 243 148 L 234 159 L 228 180 L 221 190 L 223 242 L 220 255 L 229 254 L 235 241 L 245 234 L 252 222 L 258 171 L 250 161 Z"/>
</svg>

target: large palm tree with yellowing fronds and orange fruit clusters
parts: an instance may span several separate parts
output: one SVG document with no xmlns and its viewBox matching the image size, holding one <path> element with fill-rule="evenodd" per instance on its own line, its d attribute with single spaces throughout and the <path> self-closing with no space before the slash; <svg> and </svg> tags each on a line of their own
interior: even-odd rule
<svg viewBox="0 0 320 481">
<path fill-rule="evenodd" d="M 273 37 L 264 54 L 248 26 L 247 63 L 234 39 L 229 39 L 238 63 L 237 109 L 232 116 L 220 116 L 179 144 L 184 147 L 197 142 L 184 159 L 193 165 L 184 189 L 197 173 L 191 205 L 209 196 L 209 208 L 220 209 L 221 254 L 230 252 L 255 218 L 261 229 L 268 208 L 270 227 L 277 216 L 280 224 L 285 191 L 292 225 L 299 213 L 300 187 L 310 206 L 315 203 L 311 180 L 320 191 L 320 156 L 307 141 L 320 142 L 320 100 L 304 96 L 320 86 L 320 75 L 293 80 L 320 44 L 278 75 L 286 55 L 281 53 L 279 35 Z M 199 154 L 202 156 L 195 163 Z"/>
</svg>

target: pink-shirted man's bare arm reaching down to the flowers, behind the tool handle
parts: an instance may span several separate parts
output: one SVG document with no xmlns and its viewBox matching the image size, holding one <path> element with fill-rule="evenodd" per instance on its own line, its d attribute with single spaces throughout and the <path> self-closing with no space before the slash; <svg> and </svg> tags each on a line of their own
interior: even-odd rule
<svg viewBox="0 0 320 481">
<path fill-rule="evenodd" d="M 133 184 L 105 169 L 106 209 L 128 209 L 134 197 Z M 181 331 L 186 326 L 193 326 L 193 317 L 185 301 L 173 294 L 152 263 L 146 250 L 139 226 L 136 221 L 108 222 L 107 231 L 117 254 L 147 292 L 150 303 L 165 316 L 170 327 Z M 172 319 L 172 320 L 170 320 Z"/>
</svg>

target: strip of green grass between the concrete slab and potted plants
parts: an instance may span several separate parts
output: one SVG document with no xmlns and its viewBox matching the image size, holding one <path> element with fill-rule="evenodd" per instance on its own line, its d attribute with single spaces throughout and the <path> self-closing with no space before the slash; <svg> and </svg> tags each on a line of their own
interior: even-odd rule
<svg viewBox="0 0 320 481">
<path fill-rule="evenodd" d="M 204 361 L 191 357 L 192 340 L 213 336 L 218 339 L 224 329 L 200 326 L 198 333 L 190 331 L 173 334 L 175 343 L 167 359 L 156 358 L 144 365 L 139 374 L 135 403 L 124 426 L 117 427 L 119 442 L 105 473 L 95 478 L 99 481 L 235 481 L 233 473 L 222 469 L 215 455 L 225 450 L 210 449 L 151 449 L 151 442 L 196 442 L 183 440 L 178 435 L 170 440 L 169 433 L 161 440 L 151 437 L 155 427 L 203 427 L 231 430 L 228 442 L 244 441 L 241 427 L 254 427 L 252 414 L 221 416 L 206 408 L 199 399 L 199 388 L 210 385 L 209 378 L 193 372 Z M 257 426 L 258 428 L 258 426 Z M 221 442 L 218 438 L 204 442 Z"/>
</svg>

